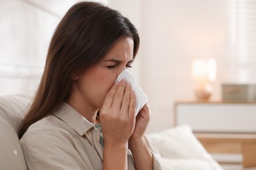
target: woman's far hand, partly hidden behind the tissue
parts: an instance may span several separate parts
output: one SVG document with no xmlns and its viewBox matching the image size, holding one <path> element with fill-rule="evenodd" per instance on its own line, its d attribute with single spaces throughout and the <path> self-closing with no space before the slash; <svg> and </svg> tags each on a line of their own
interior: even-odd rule
<svg viewBox="0 0 256 170">
<path fill-rule="evenodd" d="M 136 116 L 135 129 L 133 135 L 131 135 L 129 142 L 136 141 L 136 139 L 141 139 L 146 131 L 146 127 L 150 121 L 151 110 L 148 103 L 142 107 L 139 114 Z"/>
</svg>

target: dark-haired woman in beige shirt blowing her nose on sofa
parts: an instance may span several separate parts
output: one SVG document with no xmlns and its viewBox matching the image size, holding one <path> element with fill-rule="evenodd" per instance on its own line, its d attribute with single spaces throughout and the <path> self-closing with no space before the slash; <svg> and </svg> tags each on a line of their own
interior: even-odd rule
<svg viewBox="0 0 256 170">
<path fill-rule="evenodd" d="M 163 169 L 143 137 L 148 105 L 135 119 L 130 84 L 114 83 L 131 67 L 139 42 L 137 29 L 116 10 L 92 2 L 68 10 L 20 127 L 28 169 Z"/>
</svg>

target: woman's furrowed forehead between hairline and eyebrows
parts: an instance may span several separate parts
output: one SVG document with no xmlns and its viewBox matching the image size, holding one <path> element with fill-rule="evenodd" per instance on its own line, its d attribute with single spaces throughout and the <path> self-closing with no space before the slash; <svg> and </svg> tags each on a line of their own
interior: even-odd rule
<svg viewBox="0 0 256 170">
<path fill-rule="evenodd" d="M 123 37 L 110 49 L 104 59 L 118 58 L 121 60 L 133 59 L 133 39 Z"/>
</svg>

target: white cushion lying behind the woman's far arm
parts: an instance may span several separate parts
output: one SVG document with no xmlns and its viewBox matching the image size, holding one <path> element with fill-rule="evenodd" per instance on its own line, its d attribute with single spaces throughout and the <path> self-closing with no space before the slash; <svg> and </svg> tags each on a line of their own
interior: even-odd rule
<svg viewBox="0 0 256 170">
<path fill-rule="evenodd" d="M 148 133 L 146 137 L 163 158 L 203 160 L 207 161 L 211 169 L 222 169 L 196 139 L 190 126 L 177 126 L 157 133 Z"/>
</svg>

